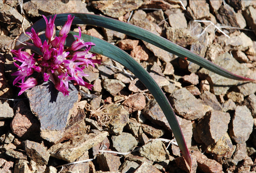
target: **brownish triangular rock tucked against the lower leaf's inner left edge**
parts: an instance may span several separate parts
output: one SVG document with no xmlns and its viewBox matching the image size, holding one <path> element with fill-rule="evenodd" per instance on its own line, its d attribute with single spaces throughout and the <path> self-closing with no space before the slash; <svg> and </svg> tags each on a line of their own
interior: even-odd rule
<svg viewBox="0 0 256 173">
<path fill-rule="evenodd" d="M 170 125 L 161 110 L 160 106 L 156 102 L 156 100 L 150 100 L 147 102 L 144 110 L 143 110 L 143 115 L 147 117 L 152 123 L 155 123 L 159 126 L 164 127 L 168 131 L 171 130 Z"/>
</svg>

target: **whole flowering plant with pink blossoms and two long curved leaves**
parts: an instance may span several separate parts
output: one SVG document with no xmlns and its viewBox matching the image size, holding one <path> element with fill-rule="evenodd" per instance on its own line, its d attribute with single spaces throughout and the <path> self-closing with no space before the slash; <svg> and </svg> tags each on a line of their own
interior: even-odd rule
<svg viewBox="0 0 256 173">
<path fill-rule="evenodd" d="M 19 95 L 25 90 L 37 85 L 37 78 L 30 77 L 35 72 L 38 73 L 38 75 L 41 74 L 44 81 L 52 81 L 55 88 L 64 95 L 68 95 L 68 85 L 70 82 L 75 85 L 86 86 L 90 89 L 92 85 L 82 80 L 82 77 L 86 76 L 83 69 L 89 64 L 94 66 L 94 63 L 100 63 L 100 60 L 92 59 L 94 54 L 90 54 L 88 51 L 90 50 L 90 52 L 109 57 L 130 70 L 154 96 L 170 124 L 181 153 L 190 167 L 191 158 L 180 125 L 168 99 L 155 80 L 139 63 L 130 57 L 130 55 L 115 45 L 102 39 L 82 34 L 80 29 L 79 33 L 69 31 L 71 23 L 94 25 L 115 30 L 151 43 L 224 77 L 234 80 L 255 81 L 235 75 L 205 58 L 135 25 L 94 14 L 72 13 L 72 16 L 68 13 L 57 14 L 57 16 L 43 16 L 44 19 L 38 20 L 27 29 L 29 31 L 31 30 L 31 33 L 28 32 L 27 34 L 31 37 L 34 43 L 33 46 L 28 46 L 28 44 L 27 46 L 23 46 L 20 44 L 19 42 L 26 42 L 27 37 L 23 33 L 19 36 L 19 42 L 16 42 L 15 46 L 15 49 L 18 50 L 12 50 L 12 53 L 16 56 L 15 59 L 22 63 L 21 65 L 15 63 L 18 71 L 12 74 L 17 75 L 13 84 L 21 80 L 21 82 L 18 82 L 20 85 L 17 85 L 21 88 Z M 66 20 L 66 18 L 68 18 L 68 20 Z M 55 31 L 55 25 L 63 25 L 63 27 L 60 31 Z M 44 38 L 43 34 L 38 35 L 37 33 L 43 30 L 45 30 L 46 39 L 40 39 Z M 85 40 L 88 42 L 85 42 Z M 30 55 L 27 52 L 21 51 L 22 46 L 34 52 L 38 52 L 38 49 L 40 49 L 40 51 L 38 55 Z"/>
</svg>

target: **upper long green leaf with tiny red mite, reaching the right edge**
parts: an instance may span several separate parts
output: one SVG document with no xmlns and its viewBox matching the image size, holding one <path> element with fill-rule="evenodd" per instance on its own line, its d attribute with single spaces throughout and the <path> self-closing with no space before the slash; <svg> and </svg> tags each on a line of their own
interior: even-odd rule
<svg viewBox="0 0 256 173">
<path fill-rule="evenodd" d="M 130 36 L 133 36 L 137 39 L 144 40 L 148 43 L 151 43 L 159 48 L 162 48 L 165 51 L 168 51 L 172 54 L 175 54 L 179 57 L 187 57 L 187 60 L 194 62 L 198 64 L 201 67 L 206 68 L 209 71 L 212 71 L 218 75 L 222 75 L 224 77 L 234 79 L 234 80 L 249 80 L 254 81 L 253 79 L 245 78 L 239 75 L 235 75 L 222 67 L 212 63 L 211 61 L 208 61 L 207 59 L 200 57 L 199 55 L 175 44 L 171 41 L 164 39 L 163 37 L 160 37 L 148 30 L 145 30 L 143 28 L 140 28 L 135 25 L 131 25 L 126 22 L 122 22 L 116 19 L 112 19 L 105 16 L 99 16 L 94 14 L 86 14 L 86 13 L 62 13 L 57 14 L 55 25 L 64 25 L 67 19 L 67 15 L 72 14 L 75 16 L 72 24 L 86 24 L 86 25 L 95 25 L 100 26 L 104 28 L 108 28 L 111 30 L 115 30 Z M 53 16 L 53 15 L 52 15 Z M 47 16 L 49 19 L 50 16 Z M 40 32 L 45 29 L 46 24 L 44 19 L 38 20 L 35 24 L 33 24 L 31 27 L 35 29 L 36 32 Z M 27 30 L 30 31 L 31 27 L 29 27 Z M 27 37 L 22 33 L 18 40 L 20 42 L 27 41 Z M 20 44 L 19 42 L 16 42 L 16 45 Z"/>
</svg>

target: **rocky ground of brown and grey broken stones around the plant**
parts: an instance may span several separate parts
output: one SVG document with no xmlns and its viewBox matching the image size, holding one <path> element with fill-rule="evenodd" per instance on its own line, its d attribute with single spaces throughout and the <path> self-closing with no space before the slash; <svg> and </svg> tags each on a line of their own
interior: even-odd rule
<svg viewBox="0 0 256 173">
<path fill-rule="evenodd" d="M 152 95 L 106 57 L 96 55 L 102 64 L 84 70 L 92 90 L 73 88 L 64 97 L 46 83 L 18 97 L 9 50 L 22 27 L 42 15 L 100 14 L 256 79 L 255 7 L 255 1 L 0 1 L 0 172 L 189 172 Z M 255 83 L 226 79 L 125 34 L 79 26 L 125 50 L 157 81 L 180 122 L 193 172 L 255 173 Z"/>
</svg>

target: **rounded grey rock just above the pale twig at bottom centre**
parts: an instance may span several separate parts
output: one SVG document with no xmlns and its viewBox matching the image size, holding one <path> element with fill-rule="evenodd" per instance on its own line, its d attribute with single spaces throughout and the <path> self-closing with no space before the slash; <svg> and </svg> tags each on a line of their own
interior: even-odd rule
<svg viewBox="0 0 256 173">
<path fill-rule="evenodd" d="M 120 153 L 129 152 L 138 145 L 136 138 L 130 133 L 122 132 L 118 136 L 113 135 L 111 139 L 113 142 L 113 147 L 116 148 L 116 150 Z"/>
</svg>

